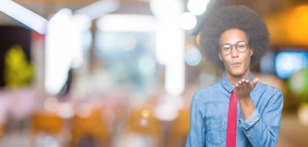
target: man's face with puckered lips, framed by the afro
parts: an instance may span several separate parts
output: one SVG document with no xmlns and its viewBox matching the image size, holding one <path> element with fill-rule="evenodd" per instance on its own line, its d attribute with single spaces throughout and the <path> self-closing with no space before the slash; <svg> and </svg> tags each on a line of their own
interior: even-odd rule
<svg viewBox="0 0 308 147">
<path fill-rule="evenodd" d="M 248 39 L 245 35 L 245 32 L 238 29 L 231 29 L 227 30 L 224 33 L 222 33 L 220 38 L 220 46 L 224 45 L 233 45 L 231 48 L 227 48 L 225 50 L 231 51 L 228 55 L 223 55 L 221 52 L 219 52 L 218 57 L 223 62 L 224 67 L 227 74 L 230 74 L 234 77 L 240 77 L 242 76 L 247 69 L 250 67 L 251 62 L 251 56 L 253 55 L 254 51 L 249 48 L 249 45 L 247 46 L 247 50 L 243 53 L 236 50 L 234 44 L 237 44 L 238 42 L 248 42 Z M 239 43 L 238 49 L 242 47 Z M 245 44 L 243 44 L 245 46 Z M 223 50 L 223 49 L 221 49 Z"/>
</svg>

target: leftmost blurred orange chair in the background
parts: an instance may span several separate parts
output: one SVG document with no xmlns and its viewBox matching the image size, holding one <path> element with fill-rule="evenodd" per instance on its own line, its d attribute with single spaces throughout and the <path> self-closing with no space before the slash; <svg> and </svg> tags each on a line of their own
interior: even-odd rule
<svg viewBox="0 0 308 147">
<path fill-rule="evenodd" d="M 35 146 L 38 133 L 47 133 L 55 137 L 61 133 L 64 126 L 63 119 L 55 113 L 35 113 L 31 121 L 31 146 Z"/>
</svg>

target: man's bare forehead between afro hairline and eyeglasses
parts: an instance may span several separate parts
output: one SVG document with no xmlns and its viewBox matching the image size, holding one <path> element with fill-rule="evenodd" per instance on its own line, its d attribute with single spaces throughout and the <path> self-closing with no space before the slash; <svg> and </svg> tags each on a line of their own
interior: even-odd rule
<svg viewBox="0 0 308 147">
<path fill-rule="evenodd" d="M 225 43 L 236 44 L 238 41 L 248 42 L 245 32 L 239 29 L 227 30 L 220 37 L 220 45 Z"/>
</svg>

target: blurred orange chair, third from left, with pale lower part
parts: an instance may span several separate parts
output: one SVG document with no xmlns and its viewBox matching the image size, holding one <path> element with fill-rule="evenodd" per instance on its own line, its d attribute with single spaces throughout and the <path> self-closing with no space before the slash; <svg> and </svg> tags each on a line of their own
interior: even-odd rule
<svg viewBox="0 0 308 147">
<path fill-rule="evenodd" d="M 124 137 L 130 139 L 128 142 L 133 142 L 134 144 L 130 145 L 134 146 L 138 142 L 140 146 L 145 146 L 144 143 L 147 144 L 146 146 L 163 146 L 163 130 L 160 121 L 152 114 L 148 117 L 143 117 L 142 111 L 143 109 L 139 109 L 130 114 L 125 126 Z M 124 144 L 128 145 L 129 143 Z"/>
</svg>

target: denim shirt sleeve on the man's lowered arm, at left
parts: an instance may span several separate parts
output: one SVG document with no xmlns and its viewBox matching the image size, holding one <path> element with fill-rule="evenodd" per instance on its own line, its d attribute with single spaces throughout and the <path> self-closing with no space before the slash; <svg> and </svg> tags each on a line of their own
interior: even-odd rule
<svg viewBox="0 0 308 147">
<path fill-rule="evenodd" d="M 198 107 L 198 97 L 195 93 L 190 104 L 190 126 L 186 147 L 205 146 L 206 126 L 205 120 Z"/>
</svg>

